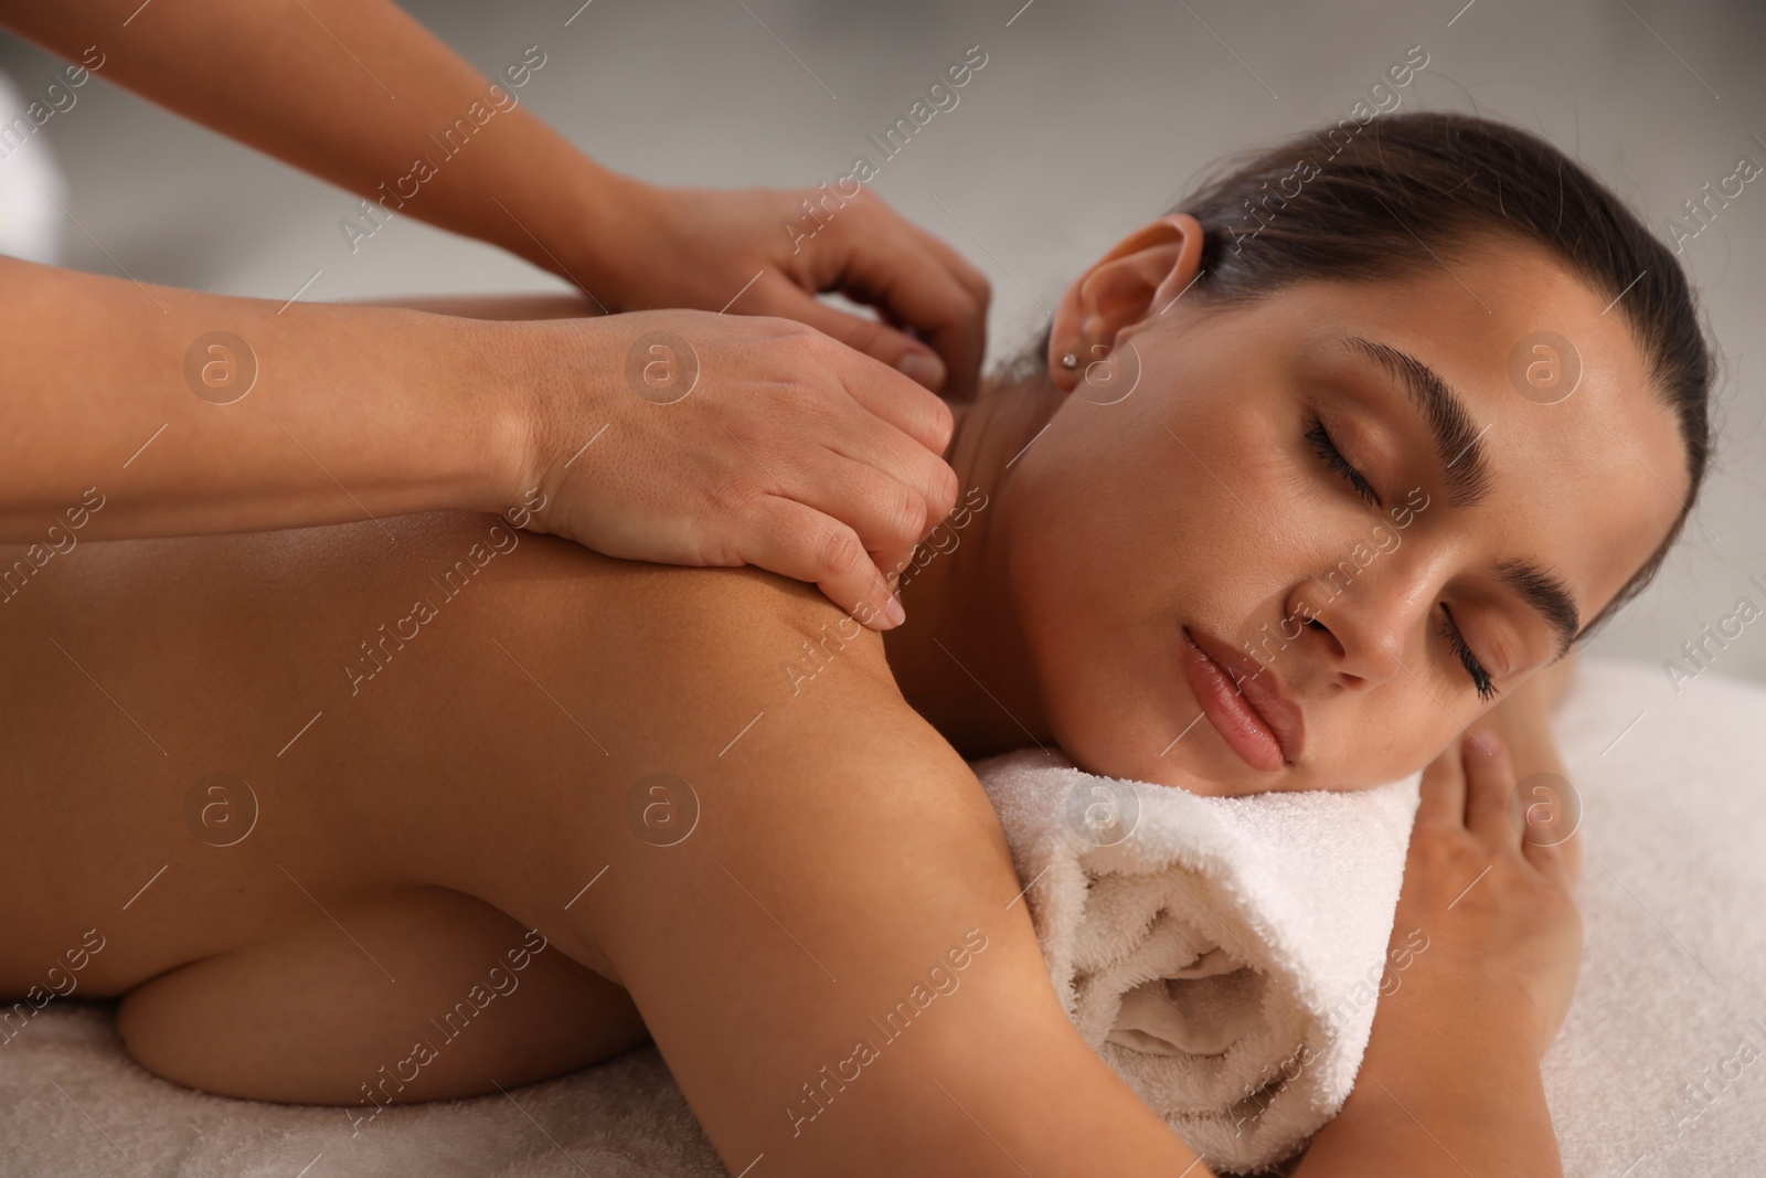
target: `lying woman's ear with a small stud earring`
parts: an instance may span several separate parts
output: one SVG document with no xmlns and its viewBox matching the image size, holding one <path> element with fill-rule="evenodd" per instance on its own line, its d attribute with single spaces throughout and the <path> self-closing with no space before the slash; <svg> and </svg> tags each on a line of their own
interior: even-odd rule
<svg viewBox="0 0 1766 1178">
<path fill-rule="evenodd" d="M 1134 323 L 1164 314 L 1196 281 L 1203 226 L 1187 212 L 1167 214 L 1116 242 L 1091 263 L 1054 311 L 1049 378 L 1072 392 L 1091 364 L 1109 359 Z"/>
</svg>

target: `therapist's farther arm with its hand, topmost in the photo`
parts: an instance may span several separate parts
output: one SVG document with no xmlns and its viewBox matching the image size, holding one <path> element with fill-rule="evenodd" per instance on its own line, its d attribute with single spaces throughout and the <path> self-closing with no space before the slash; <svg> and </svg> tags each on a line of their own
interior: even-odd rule
<svg viewBox="0 0 1766 1178">
<path fill-rule="evenodd" d="M 389 0 L 0 0 L 0 23 L 19 35 L 102 62 L 101 78 L 362 196 L 369 208 L 339 223 L 358 224 L 341 228 L 339 253 L 373 249 L 366 230 L 410 215 L 502 245 L 579 284 L 602 311 L 788 316 L 927 389 L 973 392 L 987 281 L 883 201 L 659 189 L 602 168 L 533 117 L 526 97 L 547 87 L 547 71 L 570 69 L 556 57 L 592 39 L 593 21 L 590 11 L 547 44 L 503 46 L 486 79 Z M 793 240 L 789 226 L 809 215 L 802 201 L 821 208 L 826 230 Z M 834 288 L 888 321 L 814 297 Z"/>
</svg>

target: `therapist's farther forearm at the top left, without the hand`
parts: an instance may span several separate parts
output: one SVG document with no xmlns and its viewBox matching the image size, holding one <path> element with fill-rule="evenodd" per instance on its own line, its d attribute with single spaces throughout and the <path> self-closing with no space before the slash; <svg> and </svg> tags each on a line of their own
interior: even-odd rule
<svg viewBox="0 0 1766 1178">
<path fill-rule="evenodd" d="M 593 290 L 592 244 L 618 240 L 643 185 L 528 111 L 546 71 L 523 46 L 507 48 L 517 76 L 526 65 L 517 87 L 480 76 L 387 0 L 0 0 L 0 23 L 74 62 L 97 46 L 97 76 L 357 193 L 376 215 L 502 245 L 618 309 L 616 291 Z M 413 175 L 419 159 L 429 178 Z"/>
</svg>

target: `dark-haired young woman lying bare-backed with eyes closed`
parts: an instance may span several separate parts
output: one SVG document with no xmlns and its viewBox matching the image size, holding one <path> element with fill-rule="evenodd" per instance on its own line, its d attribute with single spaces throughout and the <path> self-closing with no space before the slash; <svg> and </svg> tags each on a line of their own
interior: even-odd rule
<svg viewBox="0 0 1766 1178">
<path fill-rule="evenodd" d="M 1556 766 L 1542 669 L 1695 498 L 1709 353 L 1540 140 L 1388 117 L 1270 200 L 1312 152 L 1130 233 L 959 406 L 961 507 L 887 636 L 486 516 L 72 551 L 0 639 L 0 991 L 78 950 L 150 1070 L 364 1134 L 648 1035 L 731 1173 L 1201 1174 L 1061 1014 L 964 758 L 1211 793 L 1430 765 L 1395 922 L 1430 952 L 1296 1173 L 1558 1173 L 1574 841 L 1506 804 Z"/>
</svg>

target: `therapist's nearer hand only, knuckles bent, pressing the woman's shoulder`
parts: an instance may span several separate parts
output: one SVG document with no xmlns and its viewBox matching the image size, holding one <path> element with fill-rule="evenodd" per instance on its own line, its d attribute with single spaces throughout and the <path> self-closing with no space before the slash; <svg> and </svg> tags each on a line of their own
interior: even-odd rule
<svg viewBox="0 0 1766 1178">
<path fill-rule="evenodd" d="M 530 357 L 512 523 L 608 556 L 759 565 L 874 629 L 902 620 L 885 572 L 957 500 L 940 397 L 791 320 L 648 311 L 491 330 Z"/>
</svg>

